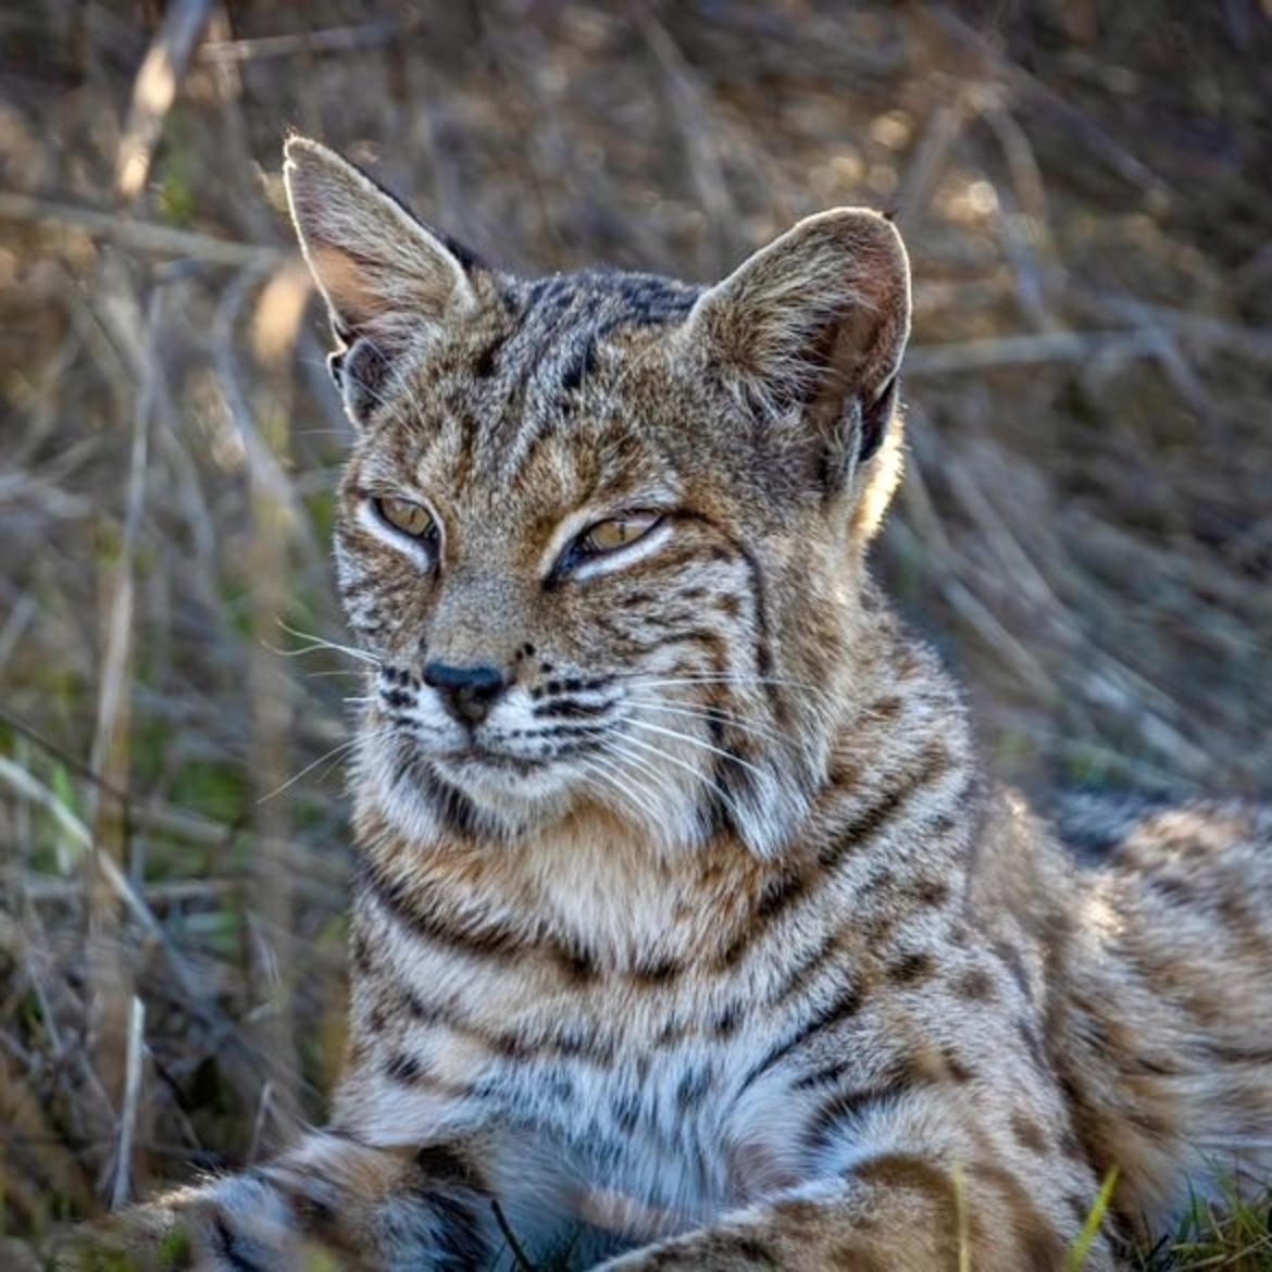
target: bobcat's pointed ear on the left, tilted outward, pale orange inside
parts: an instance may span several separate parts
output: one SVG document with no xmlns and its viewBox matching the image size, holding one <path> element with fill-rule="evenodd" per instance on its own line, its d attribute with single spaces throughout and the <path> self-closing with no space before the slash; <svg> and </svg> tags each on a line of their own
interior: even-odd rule
<svg viewBox="0 0 1272 1272">
<path fill-rule="evenodd" d="M 296 238 L 341 345 L 332 375 L 363 424 L 394 364 L 476 304 L 480 266 L 333 150 L 290 137 L 284 154 Z"/>
</svg>

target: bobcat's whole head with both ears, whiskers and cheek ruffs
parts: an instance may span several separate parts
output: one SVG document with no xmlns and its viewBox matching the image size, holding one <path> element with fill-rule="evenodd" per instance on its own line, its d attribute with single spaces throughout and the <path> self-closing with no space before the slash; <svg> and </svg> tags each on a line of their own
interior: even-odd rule
<svg viewBox="0 0 1272 1272">
<path fill-rule="evenodd" d="M 778 851 L 868 665 L 899 468 L 893 226 L 800 221 L 716 286 L 523 280 L 286 148 L 357 436 L 340 589 L 374 656 L 360 780 L 420 840 L 589 805 Z"/>
</svg>

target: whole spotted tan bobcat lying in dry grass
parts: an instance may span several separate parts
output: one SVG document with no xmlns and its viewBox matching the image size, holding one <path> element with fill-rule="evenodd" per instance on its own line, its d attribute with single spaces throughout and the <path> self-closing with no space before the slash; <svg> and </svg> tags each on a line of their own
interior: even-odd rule
<svg viewBox="0 0 1272 1272">
<path fill-rule="evenodd" d="M 1046 1272 L 1116 1168 L 1108 1269 L 1272 1175 L 1272 817 L 1040 822 L 868 572 L 894 226 L 528 282 L 313 141 L 285 174 L 357 425 L 350 1044 L 326 1130 L 144 1240 Z"/>
</svg>

